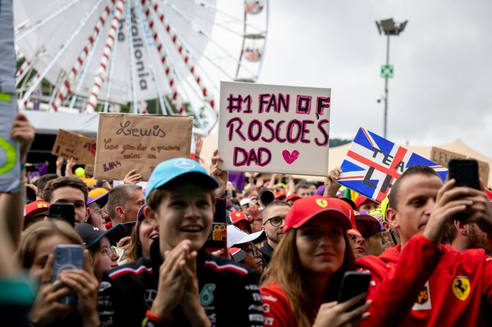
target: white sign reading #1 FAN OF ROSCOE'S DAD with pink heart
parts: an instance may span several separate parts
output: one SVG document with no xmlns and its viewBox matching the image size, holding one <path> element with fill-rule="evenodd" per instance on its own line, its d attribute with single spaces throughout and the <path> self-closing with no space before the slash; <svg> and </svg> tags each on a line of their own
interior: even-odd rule
<svg viewBox="0 0 492 327">
<path fill-rule="evenodd" d="M 329 88 L 220 82 L 222 168 L 325 176 L 330 96 Z"/>
</svg>

